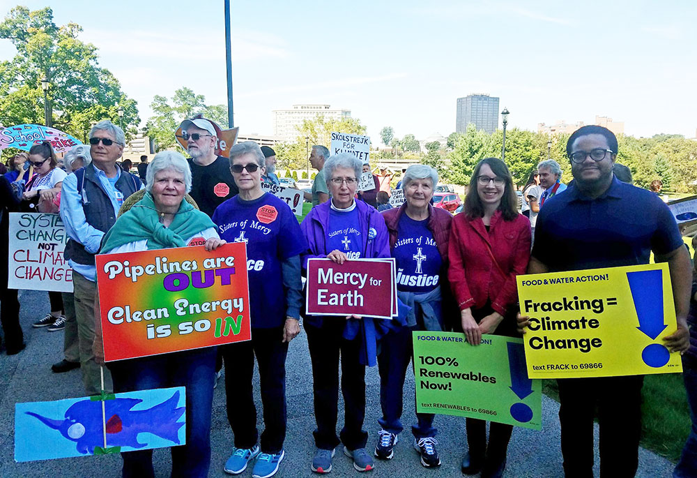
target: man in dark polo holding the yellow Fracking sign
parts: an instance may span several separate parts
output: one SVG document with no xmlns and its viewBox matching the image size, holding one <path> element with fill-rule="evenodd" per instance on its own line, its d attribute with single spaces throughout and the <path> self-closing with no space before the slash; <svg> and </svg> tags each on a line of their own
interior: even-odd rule
<svg viewBox="0 0 697 478">
<path fill-rule="evenodd" d="M 528 274 L 668 262 L 677 331 L 671 352 L 689 347 L 690 260 L 677 224 L 659 197 L 618 181 L 615 135 L 583 126 L 569 137 L 574 184 L 540 209 Z M 527 318 L 519 316 L 519 325 Z M 634 477 L 641 434 L 643 375 L 559 379 L 559 420 L 566 477 L 593 476 L 593 418 L 598 407 L 600 476 Z"/>
</svg>

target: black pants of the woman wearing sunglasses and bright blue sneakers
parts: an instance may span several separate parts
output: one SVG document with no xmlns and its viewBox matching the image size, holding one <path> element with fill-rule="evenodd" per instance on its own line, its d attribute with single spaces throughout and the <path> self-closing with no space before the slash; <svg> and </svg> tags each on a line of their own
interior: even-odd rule
<svg viewBox="0 0 697 478">
<path fill-rule="evenodd" d="M 235 435 L 235 447 L 252 448 L 259 440 L 252 378 L 254 356 L 259 364 L 259 387 L 264 431 L 261 451 L 276 454 L 286 439 L 286 355 L 283 327 L 252 329 L 252 340 L 221 347 L 225 361 L 227 419 Z"/>
</svg>

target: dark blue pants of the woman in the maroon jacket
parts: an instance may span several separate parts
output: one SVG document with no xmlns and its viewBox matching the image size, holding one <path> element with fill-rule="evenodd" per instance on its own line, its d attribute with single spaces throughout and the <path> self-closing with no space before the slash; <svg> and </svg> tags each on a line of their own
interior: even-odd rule
<svg viewBox="0 0 697 478">
<path fill-rule="evenodd" d="M 402 398 L 404 398 L 404 378 L 409 361 L 413 360 L 414 347 L 412 332 L 420 330 L 418 326 L 401 327 L 381 338 L 380 354 L 378 355 L 378 371 L 380 372 L 380 405 L 383 416 L 378 423 L 383 430 L 399 434 L 401 426 Z M 414 437 L 419 440 L 424 437 L 434 437 L 438 430 L 433 428 L 435 414 L 417 413 L 418 425 L 411 427 Z"/>
</svg>

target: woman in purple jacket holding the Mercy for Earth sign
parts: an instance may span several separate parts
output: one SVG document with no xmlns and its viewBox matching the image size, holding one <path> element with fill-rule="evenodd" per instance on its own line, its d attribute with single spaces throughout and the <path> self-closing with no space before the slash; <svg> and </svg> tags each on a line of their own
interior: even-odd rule
<svg viewBox="0 0 697 478">
<path fill-rule="evenodd" d="M 352 154 L 331 156 L 324 165 L 330 200 L 312 209 L 302 221 L 309 244 L 303 257 L 326 257 L 337 264 L 347 260 L 390 257 L 388 230 L 377 209 L 354 199 L 362 161 Z M 353 459 L 353 468 L 374 468 L 365 450 L 368 434 L 365 419 L 365 366 L 376 364 L 376 324 L 372 318 L 306 318 L 307 343 L 312 359 L 314 414 L 317 447 L 312 471 L 332 470 L 332 456 L 344 444 L 344 454 Z M 339 355 L 342 364 L 344 428 L 337 437 L 339 400 Z"/>
</svg>

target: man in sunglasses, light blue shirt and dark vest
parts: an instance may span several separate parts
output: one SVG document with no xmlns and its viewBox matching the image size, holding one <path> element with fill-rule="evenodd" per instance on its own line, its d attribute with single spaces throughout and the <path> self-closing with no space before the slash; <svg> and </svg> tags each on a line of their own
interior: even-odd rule
<svg viewBox="0 0 697 478">
<path fill-rule="evenodd" d="M 96 395 L 101 387 L 99 366 L 92 352 L 97 297 L 94 256 L 105 232 L 114 225 L 123 200 L 143 186 L 135 174 L 116 165 L 125 145 L 121 128 L 107 119 L 100 121 L 90 131 L 89 142 L 92 163 L 63 179 L 61 218 L 70 237 L 65 257 L 73 271 L 82 381 L 86 393 Z M 112 388 L 112 376 L 105 368 L 104 389 L 111 392 Z"/>
</svg>

